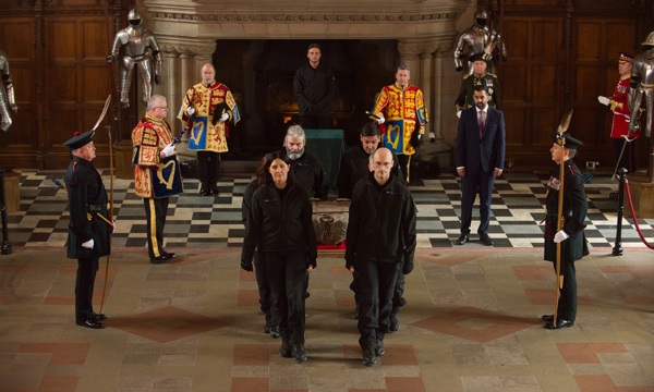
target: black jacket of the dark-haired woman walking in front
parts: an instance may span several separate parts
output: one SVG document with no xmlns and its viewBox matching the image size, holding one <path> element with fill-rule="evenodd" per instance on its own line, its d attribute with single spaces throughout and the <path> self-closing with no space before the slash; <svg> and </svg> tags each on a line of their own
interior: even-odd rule
<svg viewBox="0 0 654 392">
<path fill-rule="evenodd" d="M 256 247 L 259 253 L 306 250 L 307 265 L 316 266 L 317 244 L 308 195 L 298 184 L 288 186 L 283 198 L 271 184 L 254 192 L 241 252 L 242 262 L 252 262 Z"/>
</svg>

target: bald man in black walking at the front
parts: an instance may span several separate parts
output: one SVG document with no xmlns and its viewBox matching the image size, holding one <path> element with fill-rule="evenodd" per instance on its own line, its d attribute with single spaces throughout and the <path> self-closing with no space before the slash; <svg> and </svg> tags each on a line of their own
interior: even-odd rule
<svg viewBox="0 0 654 392">
<path fill-rule="evenodd" d="M 393 155 L 377 149 L 371 174 L 354 185 L 346 235 L 346 268 L 360 277 L 359 344 L 363 364 L 385 353 L 398 274 L 413 270 L 416 210 L 409 188 L 392 173 Z"/>
</svg>

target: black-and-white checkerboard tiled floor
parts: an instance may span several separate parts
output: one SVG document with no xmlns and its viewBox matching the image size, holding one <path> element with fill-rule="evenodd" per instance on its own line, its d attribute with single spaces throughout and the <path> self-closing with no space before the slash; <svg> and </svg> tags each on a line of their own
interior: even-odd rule
<svg viewBox="0 0 654 392">
<path fill-rule="evenodd" d="M 102 171 L 109 188 L 109 170 Z M 63 246 L 68 231 L 66 193 L 56 186 L 63 171 L 21 171 L 21 208 L 9 213 L 10 243 L 15 246 Z M 489 235 L 495 247 L 541 247 L 543 244 L 544 183 L 549 174 L 506 172 L 496 181 Z M 185 193 L 171 198 L 165 241 L 170 247 L 239 247 L 244 235 L 241 222 L 243 191 L 250 179 L 221 179 L 220 196 L 197 196 L 197 180 L 185 180 Z M 615 245 L 617 204 L 609 193 L 617 181 L 595 173 L 585 185 L 589 197 L 588 228 L 591 247 Z M 453 174 L 435 180 L 419 180 L 411 185 L 419 209 L 417 232 L 421 247 L 451 247 L 459 236 L 460 181 Z M 146 226 L 143 201 L 134 194 L 134 183 L 114 181 L 114 216 L 118 229 L 112 243 L 118 247 L 145 247 Z M 476 230 L 479 210 L 473 212 Z M 654 219 L 640 219 L 646 238 L 654 238 Z M 473 235 L 467 246 L 483 246 Z M 631 218 L 622 219 L 623 247 L 644 247 Z"/>
</svg>

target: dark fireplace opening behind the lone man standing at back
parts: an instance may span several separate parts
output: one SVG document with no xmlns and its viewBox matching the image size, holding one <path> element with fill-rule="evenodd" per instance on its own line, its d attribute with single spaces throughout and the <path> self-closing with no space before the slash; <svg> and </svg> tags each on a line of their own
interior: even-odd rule
<svg viewBox="0 0 654 392">
<path fill-rule="evenodd" d="M 216 78 L 231 89 L 242 119 L 230 130 L 225 159 L 256 159 L 282 146 L 286 130 L 298 122 L 293 76 L 312 42 L 337 77 L 332 127 L 343 130 L 348 146 L 358 142 L 375 95 L 395 81 L 395 40 L 218 40 Z"/>
</svg>

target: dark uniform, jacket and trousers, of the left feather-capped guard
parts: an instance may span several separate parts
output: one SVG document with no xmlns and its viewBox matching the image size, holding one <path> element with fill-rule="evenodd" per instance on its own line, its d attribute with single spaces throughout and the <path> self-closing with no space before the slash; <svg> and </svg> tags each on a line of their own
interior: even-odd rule
<svg viewBox="0 0 654 392">
<path fill-rule="evenodd" d="M 98 260 L 111 253 L 109 235 L 112 226 L 107 210 L 107 191 L 90 161 L 73 157 L 63 177 L 71 213 L 66 241 L 68 257 L 77 259 L 75 281 L 75 319 L 83 323 L 93 319 L 93 290 Z M 107 221 L 98 216 L 102 216 Z M 92 249 L 82 247 L 94 241 Z"/>
</svg>

